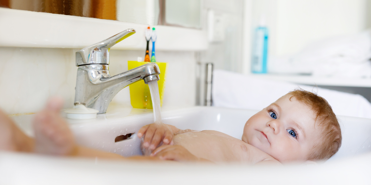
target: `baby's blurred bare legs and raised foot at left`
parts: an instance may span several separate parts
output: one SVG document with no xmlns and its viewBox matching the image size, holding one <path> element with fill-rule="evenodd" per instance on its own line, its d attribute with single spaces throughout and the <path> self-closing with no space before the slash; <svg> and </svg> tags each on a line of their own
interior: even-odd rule
<svg viewBox="0 0 371 185">
<path fill-rule="evenodd" d="M 104 159 L 158 160 L 155 157 L 125 158 L 118 154 L 76 145 L 67 122 L 60 117 L 63 105 L 60 98 L 52 98 L 34 120 L 35 138 L 28 137 L 4 112 L 0 111 L 0 150 L 34 152 L 57 156 L 77 156 Z"/>
</svg>

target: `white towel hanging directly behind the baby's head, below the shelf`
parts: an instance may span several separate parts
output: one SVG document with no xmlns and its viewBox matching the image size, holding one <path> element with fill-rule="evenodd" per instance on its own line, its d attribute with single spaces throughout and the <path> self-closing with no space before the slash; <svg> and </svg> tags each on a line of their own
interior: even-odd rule
<svg viewBox="0 0 371 185">
<path fill-rule="evenodd" d="M 216 107 L 262 110 L 295 88 L 316 92 L 325 98 L 336 115 L 371 118 L 371 104 L 359 94 L 309 85 L 265 80 L 224 70 L 214 70 L 212 97 Z"/>
</svg>

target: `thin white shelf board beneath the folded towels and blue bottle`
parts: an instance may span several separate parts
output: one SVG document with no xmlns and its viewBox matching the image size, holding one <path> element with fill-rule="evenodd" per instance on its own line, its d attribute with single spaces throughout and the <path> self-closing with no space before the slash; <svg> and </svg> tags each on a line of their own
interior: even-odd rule
<svg viewBox="0 0 371 185">
<path fill-rule="evenodd" d="M 342 87 L 371 87 L 370 78 L 325 78 L 312 77 L 305 75 L 275 75 L 275 74 L 251 74 L 253 77 L 271 79 L 278 81 L 288 81 L 306 85 L 328 85 Z"/>
</svg>

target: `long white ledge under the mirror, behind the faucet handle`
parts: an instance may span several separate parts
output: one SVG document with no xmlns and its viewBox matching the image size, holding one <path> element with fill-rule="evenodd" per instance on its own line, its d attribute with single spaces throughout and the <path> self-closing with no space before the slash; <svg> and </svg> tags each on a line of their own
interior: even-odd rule
<svg viewBox="0 0 371 185">
<path fill-rule="evenodd" d="M 0 46 L 42 48 L 84 48 L 127 28 L 137 33 L 112 49 L 145 50 L 144 31 L 148 25 L 89 17 L 0 8 Z M 207 49 L 203 30 L 154 26 L 156 50 L 199 51 Z"/>
</svg>

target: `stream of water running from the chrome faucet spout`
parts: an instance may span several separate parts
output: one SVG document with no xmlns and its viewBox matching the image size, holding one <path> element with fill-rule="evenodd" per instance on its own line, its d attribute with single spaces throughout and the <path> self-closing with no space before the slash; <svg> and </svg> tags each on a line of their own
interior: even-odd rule
<svg viewBox="0 0 371 185">
<path fill-rule="evenodd" d="M 153 121 L 155 124 L 161 124 L 161 101 L 160 93 L 158 92 L 157 80 L 148 82 L 148 87 L 150 87 L 152 108 L 153 108 Z"/>
</svg>

